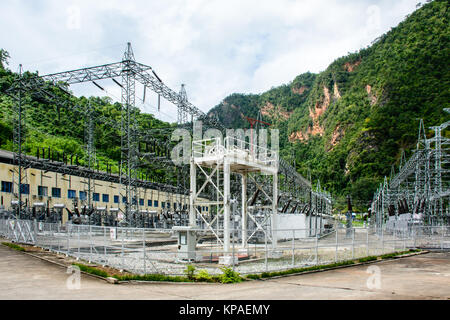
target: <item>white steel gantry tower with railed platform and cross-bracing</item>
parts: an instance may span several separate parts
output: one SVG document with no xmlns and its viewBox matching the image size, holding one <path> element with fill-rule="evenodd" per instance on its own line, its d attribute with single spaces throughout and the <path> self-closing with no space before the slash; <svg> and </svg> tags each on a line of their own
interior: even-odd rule
<svg viewBox="0 0 450 320">
<path fill-rule="evenodd" d="M 242 247 L 245 248 L 247 241 L 256 232 L 263 232 L 272 246 L 277 246 L 277 214 L 278 214 L 278 153 L 256 144 L 248 143 L 236 137 L 226 137 L 222 143 L 221 138 L 212 138 L 194 141 L 191 156 L 191 188 L 190 188 L 190 227 L 197 227 L 197 220 L 202 221 L 206 228 L 212 232 L 218 242 L 223 245 L 225 254 L 230 253 L 230 226 L 232 202 L 231 199 L 231 174 L 241 176 L 241 231 Z M 197 173 L 204 178 L 203 185 L 197 186 Z M 261 183 L 263 177 L 264 185 Z M 255 194 L 265 198 L 264 201 L 256 203 L 247 198 L 248 182 L 256 186 Z M 267 185 L 271 185 L 271 190 Z M 215 191 L 215 201 L 201 200 L 200 193 L 207 187 L 212 186 Z M 256 196 L 252 198 L 256 198 Z M 250 204 L 250 205 L 249 205 Z M 201 214 L 199 207 L 210 205 L 215 210 L 215 216 L 208 221 Z M 256 214 L 259 217 L 256 217 Z M 220 229 L 219 220 L 223 216 L 223 228 Z M 261 218 L 261 216 L 263 216 Z M 251 219 L 256 228 L 249 235 L 247 230 L 248 221 Z M 216 226 L 216 228 L 214 228 Z M 221 233 L 223 232 L 223 237 Z"/>
</svg>

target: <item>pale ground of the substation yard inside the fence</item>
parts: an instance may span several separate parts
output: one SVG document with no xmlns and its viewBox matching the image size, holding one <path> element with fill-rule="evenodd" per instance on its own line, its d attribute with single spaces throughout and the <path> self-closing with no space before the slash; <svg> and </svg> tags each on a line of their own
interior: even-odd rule
<svg viewBox="0 0 450 320">
<path fill-rule="evenodd" d="M 229 267 L 245 275 L 381 255 L 407 250 L 413 245 L 411 239 L 399 239 L 392 235 L 384 235 L 381 243 L 380 237 L 374 233 L 368 234 L 367 229 L 355 229 L 353 238 L 346 238 L 345 232 L 339 230 L 337 238 L 336 233 L 332 232 L 317 240 L 280 241 L 276 249 L 272 249 L 270 244 L 266 248 L 265 243 L 253 243 L 241 249 L 235 243 L 231 255 L 234 251 L 238 262 Z M 117 240 L 111 240 L 105 234 L 80 232 L 72 234 L 67 241 L 64 233 L 41 233 L 37 241 L 40 247 L 53 252 L 135 274 L 184 275 L 188 264 L 205 269 L 210 274 L 220 274 L 224 267 L 219 264 L 219 257 L 224 255 L 223 247 L 210 236 L 197 244 L 196 261 L 180 261 L 177 257 L 177 239 L 168 231 L 146 231 L 145 240 L 142 231 L 130 230 L 128 235 L 124 232 L 123 238 Z M 276 255 L 271 254 L 274 252 Z"/>
</svg>

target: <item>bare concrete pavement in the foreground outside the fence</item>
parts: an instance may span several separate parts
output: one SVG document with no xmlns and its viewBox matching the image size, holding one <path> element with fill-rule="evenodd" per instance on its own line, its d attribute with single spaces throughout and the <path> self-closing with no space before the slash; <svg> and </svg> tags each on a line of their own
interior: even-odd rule
<svg viewBox="0 0 450 320">
<path fill-rule="evenodd" d="M 368 270 L 369 267 L 371 269 Z M 231 285 L 172 283 L 112 285 L 103 280 L 81 275 L 80 288 L 70 290 L 67 283 L 72 283 L 71 275 L 66 271 L 60 266 L 0 245 L 0 299 L 450 299 L 449 252 L 431 252 L 363 266 Z M 376 279 L 380 280 L 379 283 Z"/>
</svg>

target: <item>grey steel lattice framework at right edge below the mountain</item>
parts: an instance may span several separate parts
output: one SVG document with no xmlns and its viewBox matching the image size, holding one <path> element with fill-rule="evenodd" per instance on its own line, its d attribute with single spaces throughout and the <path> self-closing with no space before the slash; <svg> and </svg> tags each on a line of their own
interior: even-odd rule
<svg viewBox="0 0 450 320">
<path fill-rule="evenodd" d="M 427 138 L 420 120 L 412 156 L 404 161 L 402 154 L 398 173 L 392 171 L 389 180 L 385 177 L 374 194 L 371 211 L 378 230 L 399 220 L 410 225 L 450 225 L 450 139 L 443 136 L 449 125 L 447 121 L 431 127 L 434 136 Z"/>
</svg>

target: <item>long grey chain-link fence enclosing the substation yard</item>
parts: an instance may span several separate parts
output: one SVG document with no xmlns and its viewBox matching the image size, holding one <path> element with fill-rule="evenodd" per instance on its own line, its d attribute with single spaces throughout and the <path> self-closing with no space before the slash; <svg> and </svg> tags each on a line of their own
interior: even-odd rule
<svg viewBox="0 0 450 320">
<path fill-rule="evenodd" d="M 305 237 L 309 234 L 309 230 L 305 229 L 263 230 L 248 242 L 242 240 L 240 230 L 232 230 L 228 253 L 223 251 L 223 230 L 216 230 L 215 234 L 205 229 L 190 231 L 196 235 L 195 249 L 181 252 L 183 247 L 178 234 L 171 229 L 0 220 L 0 235 L 14 242 L 33 244 L 136 274 L 183 275 L 188 263 L 210 274 L 220 274 L 224 261 L 241 274 L 253 274 L 329 264 L 417 247 L 450 249 L 450 227 L 414 226 L 390 232 L 375 232 L 374 228 L 337 227 L 320 237 Z M 274 234 L 278 239 L 276 246 L 272 243 Z M 189 262 L 180 258 L 186 255 L 194 258 Z M 224 257 L 230 259 L 224 260 Z"/>
</svg>

